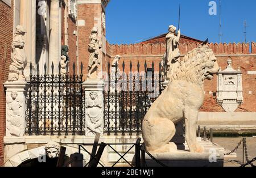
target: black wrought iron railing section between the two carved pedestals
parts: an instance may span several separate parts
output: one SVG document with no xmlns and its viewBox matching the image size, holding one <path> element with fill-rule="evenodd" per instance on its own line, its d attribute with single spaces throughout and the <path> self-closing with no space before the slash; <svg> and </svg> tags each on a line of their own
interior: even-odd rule
<svg viewBox="0 0 256 178">
<path fill-rule="evenodd" d="M 26 134 L 28 135 L 76 135 L 85 132 L 84 91 L 82 88 L 82 73 L 32 74 L 30 65 L 30 81 L 27 90 Z M 37 65 L 39 71 L 39 65 Z M 82 71 L 82 64 L 81 64 Z"/>
</svg>

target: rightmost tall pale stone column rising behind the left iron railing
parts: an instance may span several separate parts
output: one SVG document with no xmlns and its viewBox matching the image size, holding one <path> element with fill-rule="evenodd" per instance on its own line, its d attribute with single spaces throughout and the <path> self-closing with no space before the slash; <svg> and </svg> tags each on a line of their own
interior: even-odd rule
<svg viewBox="0 0 256 178">
<path fill-rule="evenodd" d="M 49 26 L 49 62 L 48 72 L 51 73 L 51 65 L 53 62 L 53 73 L 59 73 L 59 61 L 60 61 L 60 1 L 51 0 L 50 9 L 50 26 Z"/>
</svg>

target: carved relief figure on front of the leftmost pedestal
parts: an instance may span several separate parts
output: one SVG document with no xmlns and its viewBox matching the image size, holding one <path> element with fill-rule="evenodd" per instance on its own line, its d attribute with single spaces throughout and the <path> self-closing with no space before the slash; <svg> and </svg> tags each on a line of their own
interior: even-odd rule
<svg viewBox="0 0 256 178">
<path fill-rule="evenodd" d="M 16 100 L 18 96 L 18 92 L 13 91 L 11 92 L 11 99 L 12 101 L 10 103 L 7 103 L 7 117 L 6 117 L 6 128 L 7 133 L 9 133 L 12 136 L 20 137 L 23 136 L 22 132 L 22 120 L 24 119 L 22 117 L 22 104 Z M 7 134 L 7 135 L 9 135 Z"/>
</svg>

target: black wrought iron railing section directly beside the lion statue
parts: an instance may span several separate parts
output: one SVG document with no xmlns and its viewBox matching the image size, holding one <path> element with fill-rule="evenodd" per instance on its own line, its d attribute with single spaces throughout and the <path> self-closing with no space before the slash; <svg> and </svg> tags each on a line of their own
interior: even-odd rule
<svg viewBox="0 0 256 178">
<path fill-rule="evenodd" d="M 121 71 L 117 64 L 110 70 L 108 63 L 109 83 L 105 92 L 104 128 L 108 135 L 139 135 L 144 115 L 162 92 L 162 76 L 155 72 L 154 62 L 149 69 L 145 62 L 143 71 L 140 70 L 139 63 L 135 72 L 131 62 L 129 67 L 129 73 L 126 74 L 125 62 L 122 63 Z M 159 64 L 159 71 L 160 69 Z"/>
</svg>

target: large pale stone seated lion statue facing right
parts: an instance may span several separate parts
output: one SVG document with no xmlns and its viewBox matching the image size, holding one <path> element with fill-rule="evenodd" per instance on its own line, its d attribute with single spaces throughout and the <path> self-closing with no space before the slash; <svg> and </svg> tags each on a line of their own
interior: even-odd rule
<svg viewBox="0 0 256 178">
<path fill-rule="evenodd" d="M 175 124 L 184 119 L 185 139 L 191 152 L 203 152 L 196 143 L 196 124 L 204 101 L 204 80 L 213 79 L 219 70 L 208 45 L 201 45 L 180 60 L 162 95 L 151 105 L 142 123 L 147 151 L 174 152 Z"/>
</svg>

